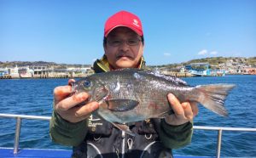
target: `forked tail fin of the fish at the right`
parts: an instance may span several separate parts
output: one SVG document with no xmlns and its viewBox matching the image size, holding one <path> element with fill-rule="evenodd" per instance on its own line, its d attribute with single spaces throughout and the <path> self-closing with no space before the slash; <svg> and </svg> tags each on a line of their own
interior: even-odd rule
<svg viewBox="0 0 256 158">
<path fill-rule="evenodd" d="M 199 95 L 196 101 L 205 106 L 208 110 L 212 110 L 220 116 L 228 116 L 227 110 L 224 108 L 224 100 L 229 91 L 235 87 L 234 84 L 210 84 L 199 85 L 195 90 Z"/>
</svg>

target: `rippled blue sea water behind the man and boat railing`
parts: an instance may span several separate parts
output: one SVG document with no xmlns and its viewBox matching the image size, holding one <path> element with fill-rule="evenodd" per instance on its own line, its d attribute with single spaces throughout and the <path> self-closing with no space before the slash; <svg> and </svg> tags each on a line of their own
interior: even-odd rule
<svg viewBox="0 0 256 158">
<path fill-rule="evenodd" d="M 218 116 L 199 105 L 196 126 L 256 127 L 256 76 L 183 78 L 190 85 L 233 83 L 236 87 L 225 101 L 228 117 Z M 67 79 L 0 80 L 0 113 L 51 116 L 53 89 Z M 20 148 L 71 149 L 51 142 L 49 121 L 22 120 Z M 217 131 L 195 130 L 192 143 L 174 150 L 175 155 L 214 156 Z M 0 118 L 0 147 L 13 147 L 15 119 Z M 221 156 L 255 157 L 255 132 L 223 132 Z"/>
</svg>

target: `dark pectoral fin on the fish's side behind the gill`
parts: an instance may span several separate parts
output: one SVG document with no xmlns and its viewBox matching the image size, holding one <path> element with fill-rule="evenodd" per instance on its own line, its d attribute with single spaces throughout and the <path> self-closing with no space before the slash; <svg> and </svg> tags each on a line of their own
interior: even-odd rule
<svg viewBox="0 0 256 158">
<path fill-rule="evenodd" d="M 131 99 L 107 99 L 108 110 L 113 111 L 126 111 L 134 109 L 139 102 Z"/>
</svg>

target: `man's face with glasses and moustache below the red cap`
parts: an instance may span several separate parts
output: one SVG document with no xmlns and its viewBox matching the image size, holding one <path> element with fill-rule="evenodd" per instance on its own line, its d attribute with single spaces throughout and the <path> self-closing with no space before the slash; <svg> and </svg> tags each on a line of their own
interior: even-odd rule
<svg viewBox="0 0 256 158">
<path fill-rule="evenodd" d="M 117 27 L 111 31 L 104 50 L 112 68 L 137 68 L 143 56 L 141 40 L 135 31 L 127 27 Z"/>
</svg>

